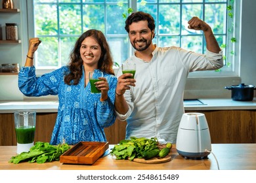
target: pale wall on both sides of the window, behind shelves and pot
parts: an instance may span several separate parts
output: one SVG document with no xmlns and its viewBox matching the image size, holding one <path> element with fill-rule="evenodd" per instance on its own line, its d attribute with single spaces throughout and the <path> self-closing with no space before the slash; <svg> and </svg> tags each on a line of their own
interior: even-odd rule
<svg viewBox="0 0 256 183">
<path fill-rule="evenodd" d="M 239 84 L 240 82 L 244 82 L 245 84 L 253 84 L 256 86 L 256 1 L 241 1 L 242 28 L 240 31 L 241 39 L 238 41 L 238 44 L 240 44 L 241 48 L 240 75 L 228 78 L 188 78 L 186 90 L 184 91 L 185 98 L 228 98 L 231 97 L 231 92 L 230 90 L 225 90 L 224 86 L 231 86 L 234 84 Z M 22 43 L 0 44 L 0 63 L 20 63 L 20 65 L 23 65 L 26 59 L 26 52 L 28 50 L 28 22 L 26 19 L 26 1 L 13 0 L 13 2 L 14 8 L 20 8 L 21 12 L 15 14 L 1 13 L 0 24 L 3 31 L 5 31 L 5 27 L 3 27 L 5 23 L 17 23 L 19 31 L 18 35 L 20 39 L 22 39 Z M 29 22 L 29 24 L 33 24 L 33 22 Z M 23 99 L 23 95 L 20 95 L 20 92 L 16 91 L 16 83 L 13 81 L 13 77 L 0 76 L 0 100 Z M 11 93 L 11 96 L 7 97 L 8 91 L 12 90 L 12 88 L 14 88 L 15 90 L 13 91 L 17 93 L 15 95 L 14 93 Z M 5 94 L 3 95 L 3 93 Z"/>
</svg>

